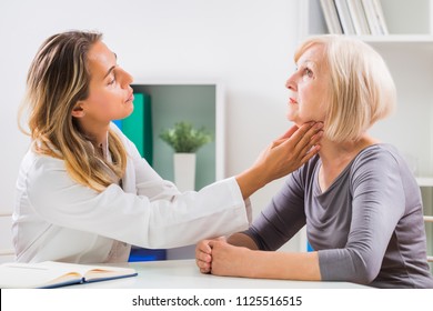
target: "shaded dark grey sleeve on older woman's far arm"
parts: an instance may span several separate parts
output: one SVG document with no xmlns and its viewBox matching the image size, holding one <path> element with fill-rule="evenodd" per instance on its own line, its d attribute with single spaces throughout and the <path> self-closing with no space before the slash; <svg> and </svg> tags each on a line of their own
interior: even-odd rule
<svg viewBox="0 0 433 311">
<path fill-rule="evenodd" d="M 260 250 L 278 250 L 305 224 L 304 191 L 301 172 L 289 175 L 280 192 L 243 233 Z"/>
</svg>

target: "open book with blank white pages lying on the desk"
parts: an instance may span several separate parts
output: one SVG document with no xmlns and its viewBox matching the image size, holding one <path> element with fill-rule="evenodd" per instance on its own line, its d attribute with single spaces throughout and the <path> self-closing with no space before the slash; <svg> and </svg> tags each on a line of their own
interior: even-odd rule
<svg viewBox="0 0 433 311">
<path fill-rule="evenodd" d="M 1 289 L 51 289 L 138 275 L 132 268 L 57 261 L 0 264 Z"/>
</svg>

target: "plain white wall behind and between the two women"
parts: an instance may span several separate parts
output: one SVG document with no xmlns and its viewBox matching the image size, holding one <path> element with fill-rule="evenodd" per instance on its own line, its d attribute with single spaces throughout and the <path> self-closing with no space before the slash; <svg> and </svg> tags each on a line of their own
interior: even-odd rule
<svg viewBox="0 0 433 311">
<path fill-rule="evenodd" d="M 215 80 L 225 87 L 229 175 L 290 126 L 285 79 L 293 70 L 298 0 L 17 0 L 0 2 L 0 214 L 13 207 L 28 138 L 17 108 L 42 41 L 69 29 L 99 30 L 135 80 Z M 254 194 L 256 211 L 281 180 Z"/>
</svg>

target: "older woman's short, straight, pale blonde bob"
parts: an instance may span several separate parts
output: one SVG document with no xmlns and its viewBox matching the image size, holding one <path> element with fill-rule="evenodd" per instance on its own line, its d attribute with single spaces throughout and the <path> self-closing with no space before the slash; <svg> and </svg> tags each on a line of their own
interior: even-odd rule
<svg viewBox="0 0 433 311">
<path fill-rule="evenodd" d="M 296 50 L 295 62 L 314 44 L 323 46 L 331 78 L 324 133 L 333 141 L 358 140 L 393 111 L 396 90 L 391 73 L 373 48 L 345 36 L 308 39 Z"/>
</svg>

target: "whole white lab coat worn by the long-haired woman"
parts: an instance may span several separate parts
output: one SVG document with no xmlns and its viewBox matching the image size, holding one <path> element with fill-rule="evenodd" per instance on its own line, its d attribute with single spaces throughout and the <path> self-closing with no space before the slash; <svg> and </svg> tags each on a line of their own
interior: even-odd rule
<svg viewBox="0 0 433 311">
<path fill-rule="evenodd" d="M 81 185 L 62 160 L 29 150 L 12 215 L 17 260 L 124 262 L 130 245 L 174 248 L 248 227 L 248 202 L 234 178 L 180 193 L 142 159 L 115 126 L 129 154 L 122 188 Z"/>
</svg>

